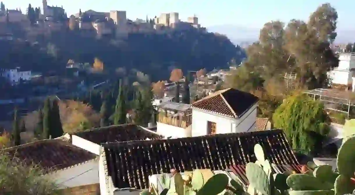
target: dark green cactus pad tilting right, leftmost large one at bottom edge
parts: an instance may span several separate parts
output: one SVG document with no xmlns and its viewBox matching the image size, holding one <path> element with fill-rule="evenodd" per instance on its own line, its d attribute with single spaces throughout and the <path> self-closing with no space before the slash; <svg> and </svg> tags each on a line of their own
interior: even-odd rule
<svg viewBox="0 0 355 195">
<path fill-rule="evenodd" d="M 202 186 L 196 195 L 219 194 L 228 186 L 229 178 L 223 173 L 215 174 Z"/>
</svg>

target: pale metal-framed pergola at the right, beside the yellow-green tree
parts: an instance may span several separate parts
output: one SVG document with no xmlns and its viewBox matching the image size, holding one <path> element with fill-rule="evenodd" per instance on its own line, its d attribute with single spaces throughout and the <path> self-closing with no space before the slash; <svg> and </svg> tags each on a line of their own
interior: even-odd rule
<svg viewBox="0 0 355 195">
<path fill-rule="evenodd" d="M 313 97 L 314 100 L 324 102 L 324 107 L 328 110 L 344 112 L 349 117 L 350 107 L 354 106 L 355 93 L 338 89 L 313 89 L 304 92 Z M 346 105 L 347 110 L 337 109 L 337 105 Z"/>
</svg>

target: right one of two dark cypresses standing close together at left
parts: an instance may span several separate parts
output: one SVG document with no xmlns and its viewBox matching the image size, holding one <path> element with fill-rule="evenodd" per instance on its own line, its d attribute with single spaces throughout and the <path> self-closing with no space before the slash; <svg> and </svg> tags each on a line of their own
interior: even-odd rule
<svg viewBox="0 0 355 195">
<path fill-rule="evenodd" d="M 54 99 L 50 109 L 50 135 L 51 138 L 58 138 L 64 134 L 62 123 L 60 121 L 60 113 L 58 100 Z"/>
</svg>

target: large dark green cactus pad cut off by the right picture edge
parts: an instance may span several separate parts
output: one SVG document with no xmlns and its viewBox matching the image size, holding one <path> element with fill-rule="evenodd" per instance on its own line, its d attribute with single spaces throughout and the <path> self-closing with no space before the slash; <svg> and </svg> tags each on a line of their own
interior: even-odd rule
<svg viewBox="0 0 355 195">
<path fill-rule="evenodd" d="M 338 151 L 337 167 L 340 174 L 353 177 L 355 172 L 355 137 L 348 138 Z"/>
</svg>

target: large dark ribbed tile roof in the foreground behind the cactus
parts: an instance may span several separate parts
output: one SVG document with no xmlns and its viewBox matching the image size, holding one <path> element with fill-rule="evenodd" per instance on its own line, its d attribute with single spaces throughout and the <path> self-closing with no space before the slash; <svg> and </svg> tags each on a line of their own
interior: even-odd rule
<svg viewBox="0 0 355 195">
<path fill-rule="evenodd" d="M 282 130 L 215 134 L 201 137 L 103 144 L 106 174 L 116 188 L 148 188 L 148 176 L 193 169 L 222 170 L 256 161 L 254 145 L 263 146 L 270 162 L 298 164 Z"/>
</svg>

